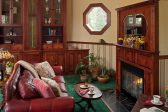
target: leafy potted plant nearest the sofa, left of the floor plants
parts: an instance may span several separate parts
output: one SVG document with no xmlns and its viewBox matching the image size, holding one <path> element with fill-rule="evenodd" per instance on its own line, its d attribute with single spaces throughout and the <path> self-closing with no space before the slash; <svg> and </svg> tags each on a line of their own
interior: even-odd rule
<svg viewBox="0 0 168 112">
<path fill-rule="evenodd" d="M 88 81 L 88 75 L 86 73 L 86 69 L 87 69 L 87 65 L 85 65 L 82 61 L 80 61 L 80 63 L 76 65 L 75 74 L 80 75 L 81 82 Z"/>
</svg>

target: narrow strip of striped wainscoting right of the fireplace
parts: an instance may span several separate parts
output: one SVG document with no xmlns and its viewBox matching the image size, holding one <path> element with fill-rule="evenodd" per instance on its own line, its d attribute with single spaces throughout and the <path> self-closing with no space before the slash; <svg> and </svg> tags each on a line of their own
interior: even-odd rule
<svg viewBox="0 0 168 112">
<path fill-rule="evenodd" d="M 159 82 L 160 95 L 165 96 L 165 87 L 168 87 L 168 56 L 159 57 Z"/>
</svg>

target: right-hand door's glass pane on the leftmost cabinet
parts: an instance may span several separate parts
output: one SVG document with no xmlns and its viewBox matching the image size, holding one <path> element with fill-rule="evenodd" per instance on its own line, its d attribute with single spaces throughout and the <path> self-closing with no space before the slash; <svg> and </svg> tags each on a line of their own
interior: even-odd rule
<svg viewBox="0 0 168 112">
<path fill-rule="evenodd" d="M 13 0 L 13 24 L 21 24 L 21 0 Z"/>
</svg>

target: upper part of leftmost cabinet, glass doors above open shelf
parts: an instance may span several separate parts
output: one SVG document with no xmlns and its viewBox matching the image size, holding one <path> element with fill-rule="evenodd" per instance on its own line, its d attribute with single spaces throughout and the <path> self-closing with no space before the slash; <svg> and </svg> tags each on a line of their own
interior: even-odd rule
<svg viewBox="0 0 168 112">
<path fill-rule="evenodd" d="M 0 44 L 22 44 L 22 0 L 0 0 Z"/>
</svg>

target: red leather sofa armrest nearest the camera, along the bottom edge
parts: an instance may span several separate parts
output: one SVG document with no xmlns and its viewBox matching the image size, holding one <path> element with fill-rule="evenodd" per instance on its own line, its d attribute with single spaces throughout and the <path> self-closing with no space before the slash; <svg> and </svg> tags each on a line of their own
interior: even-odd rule
<svg viewBox="0 0 168 112">
<path fill-rule="evenodd" d="M 11 100 L 5 104 L 4 112 L 73 112 L 73 97 L 37 98 Z"/>
</svg>

